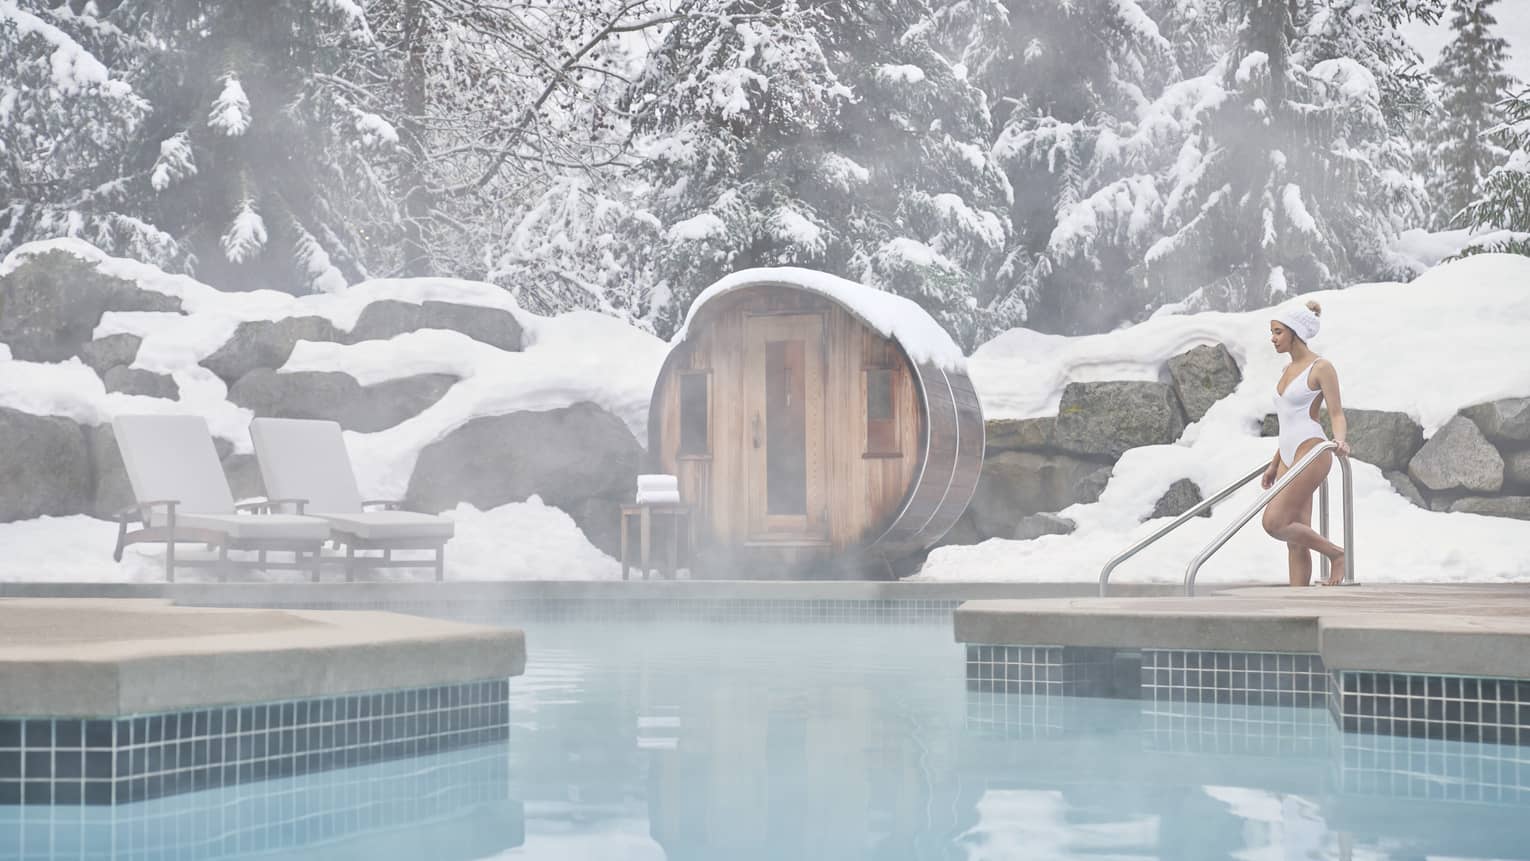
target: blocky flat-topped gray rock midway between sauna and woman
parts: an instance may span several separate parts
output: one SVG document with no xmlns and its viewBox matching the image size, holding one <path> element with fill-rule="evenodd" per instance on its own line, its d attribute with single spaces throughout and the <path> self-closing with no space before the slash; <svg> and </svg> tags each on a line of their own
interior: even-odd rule
<svg viewBox="0 0 1530 861">
<path fill-rule="evenodd" d="M 1164 445 L 1184 431 L 1184 411 L 1164 382 L 1069 382 L 1057 410 L 1056 445 L 1115 460 L 1128 448 Z"/>
</svg>

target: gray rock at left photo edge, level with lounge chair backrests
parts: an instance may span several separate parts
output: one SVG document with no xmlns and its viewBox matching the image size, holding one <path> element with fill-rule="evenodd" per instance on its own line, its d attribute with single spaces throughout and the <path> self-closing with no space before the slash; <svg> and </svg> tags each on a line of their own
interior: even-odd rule
<svg viewBox="0 0 1530 861">
<path fill-rule="evenodd" d="M 90 511 L 90 453 L 80 425 L 0 407 L 0 523 Z"/>
</svg>

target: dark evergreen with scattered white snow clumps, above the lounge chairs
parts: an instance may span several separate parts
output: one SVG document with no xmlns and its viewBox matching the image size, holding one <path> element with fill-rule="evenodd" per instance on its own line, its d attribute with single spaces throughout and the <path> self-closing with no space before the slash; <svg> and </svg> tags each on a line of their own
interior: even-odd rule
<svg viewBox="0 0 1530 861">
<path fill-rule="evenodd" d="M 179 265 L 228 289 L 338 291 L 366 277 L 352 216 L 389 211 L 372 162 L 396 139 L 355 87 L 330 86 L 361 76 L 361 8 L 124 0 L 109 18 L 159 46 L 135 70 L 151 99 L 135 167 L 141 206 L 177 239 Z"/>
</svg>

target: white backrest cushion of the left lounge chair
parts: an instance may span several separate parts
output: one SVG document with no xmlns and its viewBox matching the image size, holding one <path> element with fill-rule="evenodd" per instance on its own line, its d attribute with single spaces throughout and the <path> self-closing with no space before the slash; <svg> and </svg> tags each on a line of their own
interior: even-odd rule
<svg viewBox="0 0 1530 861">
<path fill-rule="evenodd" d="M 118 416 L 116 447 L 139 502 L 176 500 L 176 514 L 234 514 L 223 465 L 202 416 Z M 155 508 L 158 520 L 162 508 Z"/>
</svg>

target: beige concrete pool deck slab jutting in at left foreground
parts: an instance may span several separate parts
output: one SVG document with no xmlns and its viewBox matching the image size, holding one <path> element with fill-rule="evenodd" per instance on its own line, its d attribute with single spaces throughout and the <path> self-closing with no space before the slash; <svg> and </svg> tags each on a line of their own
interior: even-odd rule
<svg viewBox="0 0 1530 861">
<path fill-rule="evenodd" d="M 370 610 L 0 598 L 0 714 L 115 717 L 506 679 L 522 632 Z"/>
</svg>

